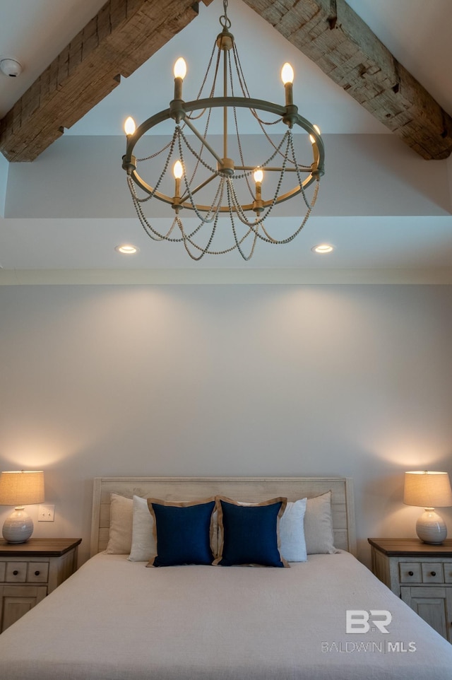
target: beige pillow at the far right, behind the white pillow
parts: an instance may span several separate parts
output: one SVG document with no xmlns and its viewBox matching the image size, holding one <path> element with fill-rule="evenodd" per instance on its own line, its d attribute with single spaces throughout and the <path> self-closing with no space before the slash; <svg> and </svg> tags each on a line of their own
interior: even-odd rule
<svg viewBox="0 0 452 680">
<path fill-rule="evenodd" d="M 308 498 L 304 513 L 304 539 L 308 555 L 339 552 L 334 547 L 331 491 Z"/>
</svg>

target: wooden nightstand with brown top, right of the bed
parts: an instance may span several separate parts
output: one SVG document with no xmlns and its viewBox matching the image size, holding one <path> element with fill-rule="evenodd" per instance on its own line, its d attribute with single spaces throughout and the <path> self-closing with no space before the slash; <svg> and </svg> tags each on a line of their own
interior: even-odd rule
<svg viewBox="0 0 452 680">
<path fill-rule="evenodd" d="M 368 540 L 374 574 L 452 643 L 452 539 Z"/>
</svg>

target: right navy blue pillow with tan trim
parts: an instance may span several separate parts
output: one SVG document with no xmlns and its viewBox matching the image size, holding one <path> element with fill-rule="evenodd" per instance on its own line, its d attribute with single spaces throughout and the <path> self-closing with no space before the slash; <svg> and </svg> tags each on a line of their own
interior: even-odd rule
<svg viewBox="0 0 452 680">
<path fill-rule="evenodd" d="M 273 498 L 259 505 L 237 505 L 218 497 L 220 546 L 215 564 L 288 566 L 278 548 L 278 518 L 286 505 L 287 498 Z"/>
</svg>

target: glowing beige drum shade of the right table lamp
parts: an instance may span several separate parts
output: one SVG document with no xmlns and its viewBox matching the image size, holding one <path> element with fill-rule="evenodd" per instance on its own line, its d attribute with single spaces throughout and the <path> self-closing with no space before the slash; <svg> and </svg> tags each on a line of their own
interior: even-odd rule
<svg viewBox="0 0 452 680">
<path fill-rule="evenodd" d="M 452 505 L 448 473 L 422 470 L 405 472 L 403 503 L 420 505 L 422 508 L 445 508 Z"/>
</svg>

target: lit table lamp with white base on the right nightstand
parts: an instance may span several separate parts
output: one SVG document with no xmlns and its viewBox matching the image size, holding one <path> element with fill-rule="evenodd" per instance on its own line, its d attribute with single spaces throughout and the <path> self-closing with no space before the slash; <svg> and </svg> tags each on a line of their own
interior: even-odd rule
<svg viewBox="0 0 452 680">
<path fill-rule="evenodd" d="M 421 541 L 441 544 L 447 536 L 447 528 L 442 517 L 434 508 L 452 505 L 451 482 L 447 472 L 417 470 L 405 472 L 403 503 L 420 505 L 424 512 L 416 522 L 416 532 Z"/>
</svg>

